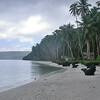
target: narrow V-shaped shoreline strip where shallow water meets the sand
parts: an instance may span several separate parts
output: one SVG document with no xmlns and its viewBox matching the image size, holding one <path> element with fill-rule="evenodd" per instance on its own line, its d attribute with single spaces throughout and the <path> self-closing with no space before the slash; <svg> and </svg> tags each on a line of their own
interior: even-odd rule
<svg viewBox="0 0 100 100">
<path fill-rule="evenodd" d="M 36 63 L 36 64 L 43 64 L 43 65 L 48 65 L 50 67 L 57 67 L 57 68 L 61 68 L 57 71 L 53 71 L 53 72 L 50 72 L 48 74 L 44 74 L 43 76 L 39 77 L 39 78 L 33 78 L 33 79 L 29 79 L 29 80 L 23 80 L 23 81 L 20 81 L 20 82 L 17 82 L 17 83 L 14 83 L 14 84 L 10 84 L 9 86 L 6 86 L 6 87 L 2 87 L 0 88 L 0 93 L 1 92 L 5 92 L 5 91 L 8 91 L 8 90 L 11 90 L 11 89 L 14 89 L 14 88 L 17 88 L 17 87 L 20 87 L 20 86 L 23 86 L 23 85 L 26 85 L 26 84 L 29 84 L 31 82 L 35 82 L 35 81 L 38 81 L 39 79 L 41 78 L 44 78 L 44 77 L 48 77 L 52 74 L 56 74 L 56 73 L 59 73 L 59 72 L 62 72 L 62 71 L 65 71 L 63 70 L 63 66 L 57 66 L 56 63 L 53 63 L 50 62 L 50 61 L 32 61 L 33 63 Z"/>
</svg>

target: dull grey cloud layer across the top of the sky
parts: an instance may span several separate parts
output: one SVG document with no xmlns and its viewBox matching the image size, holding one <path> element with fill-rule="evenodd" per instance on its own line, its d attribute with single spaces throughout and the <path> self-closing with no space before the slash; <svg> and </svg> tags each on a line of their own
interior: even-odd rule
<svg viewBox="0 0 100 100">
<path fill-rule="evenodd" d="M 18 22 L 41 15 L 54 27 L 74 22 L 69 6 L 78 0 L 0 0 L 0 20 Z M 89 0 L 95 3 L 97 0 Z"/>
</svg>

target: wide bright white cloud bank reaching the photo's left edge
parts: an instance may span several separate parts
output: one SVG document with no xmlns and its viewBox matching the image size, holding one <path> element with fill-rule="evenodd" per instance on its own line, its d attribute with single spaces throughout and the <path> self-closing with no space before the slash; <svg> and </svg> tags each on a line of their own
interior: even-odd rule
<svg viewBox="0 0 100 100">
<path fill-rule="evenodd" d="M 43 35 L 50 25 L 42 16 L 30 16 L 18 23 L 0 21 L 0 39 L 19 39 L 20 42 L 34 43 L 32 37 Z M 41 32 L 41 34 L 40 34 Z"/>
</svg>

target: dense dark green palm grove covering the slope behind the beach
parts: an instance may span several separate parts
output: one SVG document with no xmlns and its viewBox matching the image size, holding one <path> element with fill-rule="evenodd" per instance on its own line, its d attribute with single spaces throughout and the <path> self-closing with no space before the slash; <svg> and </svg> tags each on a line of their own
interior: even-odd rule
<svg viewBox="0 0 100 100">
<path fill-rule="evenodd" d="M 87 0 L 79 0 L 70 6 L 69 12 L 76 17 L 77 27 L 71 23 L 60 26 L 33 46 L 32 52 L 23 59 L 57 60 L 67 56 L 72 60 L 94 60 L 99 57 L 100 1 L 92 7 Z"/>
</svg>

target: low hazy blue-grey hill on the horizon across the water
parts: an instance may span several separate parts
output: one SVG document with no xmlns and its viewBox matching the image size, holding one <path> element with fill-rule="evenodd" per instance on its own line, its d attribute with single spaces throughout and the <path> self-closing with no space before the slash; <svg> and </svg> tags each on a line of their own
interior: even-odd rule
<svg viewBox="0 0 100 100">
<path fill-rule="evenodd" d="M 30 51 L 7 51 L 0 52 L 0 59 L 23 59 Z"/>
</svg>

